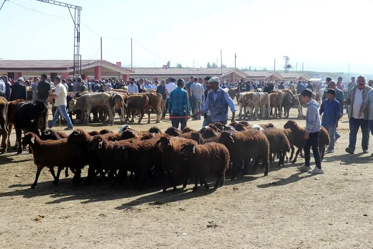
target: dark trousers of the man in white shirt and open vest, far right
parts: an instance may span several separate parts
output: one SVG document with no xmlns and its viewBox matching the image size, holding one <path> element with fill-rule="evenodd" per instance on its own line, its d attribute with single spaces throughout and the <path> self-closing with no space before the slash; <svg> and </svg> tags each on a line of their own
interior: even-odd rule
<svg viewBox="0 0 373 249">
<path fill-rule="evenodd" d="M 369 121 L 364 119 L 349 119 L 349 145 L 348 148 L 355 152 L 356 136 L 361 128 L 363 138 L 361 140 L 361 147 L 363 150 L 367 150 L 369 146 Z"/>
</svg>

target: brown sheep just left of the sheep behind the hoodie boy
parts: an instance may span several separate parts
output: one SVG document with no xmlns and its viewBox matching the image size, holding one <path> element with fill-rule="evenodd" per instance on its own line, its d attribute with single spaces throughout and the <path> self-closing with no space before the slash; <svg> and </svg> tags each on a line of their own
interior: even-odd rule
<svg viewBox="0 0 373 249">
<path fill-rule="evenodd" d="M 263 133 L 269 141 L 269 162 L 273 163 L 273 153 L 279 154 L 278 167 L 284 166 L 285 153 L 290 151 L 290 143 L 281 129 L 264 129 Z"/>
</svg>

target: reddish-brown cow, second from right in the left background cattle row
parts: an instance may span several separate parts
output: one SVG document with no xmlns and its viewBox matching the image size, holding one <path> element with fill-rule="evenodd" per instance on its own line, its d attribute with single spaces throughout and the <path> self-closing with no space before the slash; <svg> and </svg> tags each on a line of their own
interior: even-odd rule
<svg viewBox="0 0 373 249">
<path fill-rule="evenodd" d="M 140 117 L 138 119 L 138 124 L 141 123 L 143 117 L 144 117 L 144 110 L 148 110 L 148 124 L 150 124 L 150 108 L 149 108 L 149 98 L 145 94 L 139 95 L 134 94 L 130 95 L 127 98 L 127 117 L 126 120 L 129 121 L 128 114 L 131 113 L 132 119 L 129 121 L 130 123 L 134 122 L 134 117 L 136 114 L 136 111 L 140 112 Z M 132 112 L 131 112 L 132 111 Z"/>
</svg>

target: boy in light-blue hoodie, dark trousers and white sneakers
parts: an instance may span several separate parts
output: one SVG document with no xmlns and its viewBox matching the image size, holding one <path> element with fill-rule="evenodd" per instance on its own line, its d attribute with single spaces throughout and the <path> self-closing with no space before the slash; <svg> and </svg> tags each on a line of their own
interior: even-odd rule
<svg viewBox="0 0 373 249">
<path fill-rule="evenodd" d="M 321 169 L 321 158 L 319 152 L 319 133 L 321 129 L 321 121 L 319 114 L 319 104 L 316 100 L 312 99 L 312 90 L 304 89 L 300 93 L 302 101 L 307 103 L 307 116 L 306 116 L 306 133 L 305 133 L 305 164 L 297 167 L 298 170 L 308 171 L 312 174 L 323 174 L 324 170 Z M 316 167 L 311 169 L 311 146 L 313 157 L 315 158 Z"/>
</svg>

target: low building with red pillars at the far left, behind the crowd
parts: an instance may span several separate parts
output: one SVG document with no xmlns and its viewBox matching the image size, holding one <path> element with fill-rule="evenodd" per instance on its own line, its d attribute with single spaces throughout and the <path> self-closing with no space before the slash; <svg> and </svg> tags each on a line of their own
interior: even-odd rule
<svg viewBox="0 0 373 249">
<path fill-rule="evenodd" d="M 133 71 L 106 60 L 82 60 L 82 79 L 123 78 Z M 0 74 L 9 78 L 35 78 L 48 74 L 51 78 L 73 78 L 73 60 L 0 60 Z"/>
</svg>

